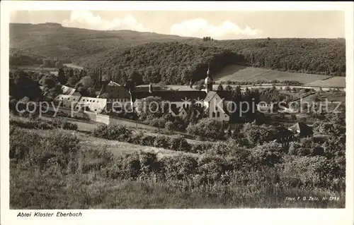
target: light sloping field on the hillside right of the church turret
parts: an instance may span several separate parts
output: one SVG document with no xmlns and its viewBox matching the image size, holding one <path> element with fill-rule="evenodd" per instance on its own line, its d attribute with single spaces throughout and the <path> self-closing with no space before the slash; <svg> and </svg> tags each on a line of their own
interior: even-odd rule
<svg viewBox="0 0 354 225">
<path fill-rule="evenodd" d="M 307 73 L 289 73 L 282 71 L 255 68 L 250 66 L 231 65 L 225 67 L 219 73 L 212 75 L 216 82 L 227 81 L 257 81 L 257 80 L 297 80 L 304 85 L 313 83 L 316 80 L 331 78 L 329 75 L 314 75 Z"/>
</svg>

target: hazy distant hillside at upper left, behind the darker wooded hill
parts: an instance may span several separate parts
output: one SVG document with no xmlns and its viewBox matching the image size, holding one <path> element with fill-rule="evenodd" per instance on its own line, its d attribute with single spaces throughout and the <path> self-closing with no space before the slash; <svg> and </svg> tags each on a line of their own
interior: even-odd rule
<svg viewBox="0 0 354 225">
<path fill-rule="evenodd" d="M 56 23 L 10 24 L 11 50 L 54 58 L 79 58 L 113 48 L 183 39 L 188 39 L 188 37 L 132 30 L 102 31 L 65 28 Z"/>
</svg>

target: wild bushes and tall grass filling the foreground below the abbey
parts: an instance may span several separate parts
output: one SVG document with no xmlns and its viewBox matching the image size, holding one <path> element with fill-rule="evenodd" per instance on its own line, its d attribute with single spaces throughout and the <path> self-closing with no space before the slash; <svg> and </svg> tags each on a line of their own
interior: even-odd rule
<svg viewBox="0 0 354 225">
<path fill-rule="evenodd" d="M 321 130 L 331 127 L 319 125 Z M 247 149 L 228 140 L 200 154 L 115 156 L 104 146 L 80 145 L 65 130 L 49 132 L 43 137 L 11 125 L 12 209 L 345 206 L 345 169 L 338 167 L 345 150 L 341 139 L 326 143 L 324 151 L 309 140 L 295 143 L 289 152 L 276 142 Z M 122 126 L 94 131 L 111 140 L 126 132 Z"/>
</svg>

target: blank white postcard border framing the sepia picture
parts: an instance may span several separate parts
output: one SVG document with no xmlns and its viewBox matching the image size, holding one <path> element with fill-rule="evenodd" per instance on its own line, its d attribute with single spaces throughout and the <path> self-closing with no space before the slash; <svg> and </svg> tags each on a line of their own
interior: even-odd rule
<svg viewBox="0 0 354 225">
<path fill-rule="evenodd" d="M 19 218 L 8 209 L 8 21 L 10 10 L 94 11 L 346 11 L 347 176 L 346 209 L 89 209 L 78 218 Z M 353 224 L 353 2 L 252 1 L 1 1 L 1 225 L 9 224 Z M 24 210 L 23 210 L 24 211 Z M 26 212 L 39 210 L 25 210 Z M 42 210 L 45 212 L 59 210 Z"/>
</svg>

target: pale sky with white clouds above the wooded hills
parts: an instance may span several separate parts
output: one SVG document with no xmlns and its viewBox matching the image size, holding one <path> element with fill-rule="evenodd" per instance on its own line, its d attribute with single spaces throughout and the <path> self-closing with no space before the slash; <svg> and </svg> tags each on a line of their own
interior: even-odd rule
<svg viewBox="0 0 354 225">
<path fill-rule="evenodd" d="M 345 37 L 343 11 L 13 11 L 11 23 L 61 23 L 185 37 Z"/>
</svg>

